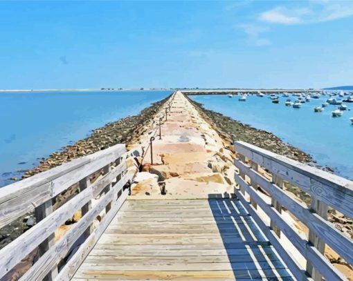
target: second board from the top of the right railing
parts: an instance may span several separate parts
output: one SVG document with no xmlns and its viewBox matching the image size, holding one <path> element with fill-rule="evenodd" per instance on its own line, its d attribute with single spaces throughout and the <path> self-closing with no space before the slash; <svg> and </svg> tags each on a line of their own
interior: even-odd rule
<svg viewBox="0 0 353 281">
<path fill-rule="evenodd" d="M 345 249 L 353 249 L 353 242 L 350 238 L 343 235 L 338 229 L 336 229 L 330 222 L 327 222 L 320 215 L 312 213 L 305 204 L 296 202 L 287 193 L 282 191 L 280 188 L 272 184 L 265 177 L 256 173 L 246 164 L 235 161 L 235 165 L 245 171 L 247 175 L 255 178 L 255 180 L 274 197 L 278 202 L 284 206 L 289 212 L 295 215 L 300 222 L 307 225 L 309 229 L 314 231 L 318 237 L 323 239 L 336 253 L 341 255 L 347 262 L 353 264 L 353 252 L 345 251 Z"/>
</svg>

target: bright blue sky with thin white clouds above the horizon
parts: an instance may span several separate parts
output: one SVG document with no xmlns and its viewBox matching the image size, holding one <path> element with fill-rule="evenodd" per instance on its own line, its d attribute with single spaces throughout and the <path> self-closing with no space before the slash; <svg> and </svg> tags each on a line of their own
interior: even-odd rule
<svg viewBox="0 0 353 281">
<path fill-rule="evenodd" d="M 353 1 L 0 1 L 0 89 L 353 84 Z"/>
</svg>

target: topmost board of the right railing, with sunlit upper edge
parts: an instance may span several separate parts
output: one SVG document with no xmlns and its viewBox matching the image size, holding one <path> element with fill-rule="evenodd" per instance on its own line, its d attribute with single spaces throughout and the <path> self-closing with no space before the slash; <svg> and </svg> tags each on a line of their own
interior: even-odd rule
<svg viewBox="0 0 353 281">
<path fill-rule="evenodd" d="M 302 191 L 323 201 L 333 209 L 353 217 L 353 182 L 318 168 L 271 153 L 246 142 L 235 142 L 235 151 L 269 169 Z"/>
</svg>

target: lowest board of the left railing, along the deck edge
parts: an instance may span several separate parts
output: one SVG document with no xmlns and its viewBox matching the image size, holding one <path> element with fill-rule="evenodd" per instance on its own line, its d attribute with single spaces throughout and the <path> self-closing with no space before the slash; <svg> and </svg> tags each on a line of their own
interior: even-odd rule
<svg viewBox="0 0 353 281">
<path fill-rule="evenodd" d="M 86 256 L 89 254 L 89 251 L 91 251 L 93 246 L 96 244 L 102 233 L 109 225 L 109 222 L 111 222 L 111 220 L 114 218 L 114 215 L 116 215 L 120 209 L 120 206 L 126 200 L 128 193 L 128 190 L 123 191 L 121 196 L 112 206 L 111 210 L 107 213 L 107 215 L 105 215 L 105 217 L 103 217 L 98 227 L 91 233 L 89 238 L 84 241 L 84 243 L 80 246 L 78 251 L 76 251 L 73 257 L 71 257 L 71 259 L 65 264 L 65 267 L 60 271 L 55 280 L 66 281 L 72 278 L 72 276 L 78 270 L 78 267 L 80 267 L 80 264 L 82 264 L 84 261 L 84 258 L 86 258 Z"/>
</svg>

